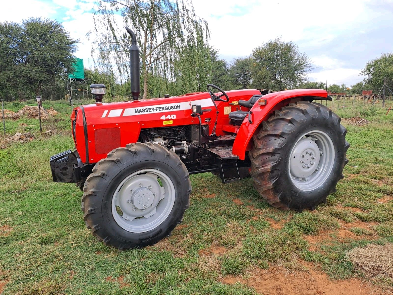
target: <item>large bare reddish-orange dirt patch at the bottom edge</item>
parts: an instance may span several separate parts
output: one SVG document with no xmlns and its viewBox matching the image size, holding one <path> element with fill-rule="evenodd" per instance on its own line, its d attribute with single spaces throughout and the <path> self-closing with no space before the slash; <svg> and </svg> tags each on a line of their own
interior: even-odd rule
<svg viewBox="0 0 393 295">
<path fill-rule="evenodd" d="M 255 269 L 248 278 L 228 276 L 222 278 L 225 284 L 240 282 L 253 287 L 257 292 L 266 295 L 361 295 L 374 293 L 375 288 L 363 284 L 361 280 L 329 280 L 327 275 L 305 265 L 309 270 L 288 272 L 285 267 L 274 266 L 267 270 Z M 381 293 L 382 294 L 382 293 Z"/>
</svg>

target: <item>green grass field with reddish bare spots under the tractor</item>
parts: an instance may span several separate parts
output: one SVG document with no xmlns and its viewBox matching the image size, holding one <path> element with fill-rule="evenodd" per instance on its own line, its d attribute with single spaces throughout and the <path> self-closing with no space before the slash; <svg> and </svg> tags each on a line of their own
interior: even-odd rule
<svg viewBox="0 0 393 295">
<path fill-rule="evenodd" d="M 44 101 L 51 105 L 61 119 L 44 122 L 44 131 L 57 130 L 52 136 L 40 134 L 35 119 L 6 122 L 9 135 L 36 137 L 0 149 L 0 293 L 390 292 L 389 278 L 364 280 L 346 257 L 354 247 L 393 242 L 393 114 L 386 109 L 332 106 L 348 129 L 349 164 L 337 192 L 315 211 L 272 208 L 250 178 L 224 185 L 210 173 L 192 175 L 191 206 L 172 236 L 120 252 L 86 229 L 81 191 L 51 181 L 49 157 L 73 148 L 71 107 Z M 345 119 L 354 116 L 369 123 Z"/>
</svg>

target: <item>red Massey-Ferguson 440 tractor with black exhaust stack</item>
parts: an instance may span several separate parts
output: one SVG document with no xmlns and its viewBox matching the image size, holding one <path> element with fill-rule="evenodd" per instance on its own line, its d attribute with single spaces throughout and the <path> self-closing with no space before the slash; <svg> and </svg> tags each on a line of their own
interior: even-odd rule
<svg viewBox="0 0 393 295">
<path fill-rule="evenodd" d="M 133 100 L 95 104 L 71 114 L 75 151 L 51 157 L 53 181 L 83 190 L 84 221 L 118 249 L 169 236 L 189 207 L 190 174 L 212 172 L 222 183 L 251 175 L 255 189 L 283 210 L 313 210 L 343 178 L 349 144 L 340 118 L 314 100 L 325 90 L 224 91 L 138 99 L 139 50 L 131 35 Z"/>
</svg>

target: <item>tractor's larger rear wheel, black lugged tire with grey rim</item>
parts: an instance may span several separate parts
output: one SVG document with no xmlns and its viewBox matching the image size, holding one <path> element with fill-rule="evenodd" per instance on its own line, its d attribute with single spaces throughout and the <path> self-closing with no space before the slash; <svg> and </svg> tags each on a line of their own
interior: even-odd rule
<svg viewBox="0 0 393 295">
<path fill-rule="evenodd" d="M 344 176 L 347 130 L 330 109 L 299 101 L 274 112 L 253 136 L 254 187 L 282 210 L 314 210 Z"/>
</svg>

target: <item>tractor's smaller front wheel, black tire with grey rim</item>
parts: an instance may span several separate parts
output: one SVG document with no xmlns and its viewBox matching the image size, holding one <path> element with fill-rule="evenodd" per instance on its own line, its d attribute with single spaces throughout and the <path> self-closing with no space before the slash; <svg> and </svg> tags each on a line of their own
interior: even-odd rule
<svg viewBox="0 0 393 295">
<path fill-rule="evenodd" d="M 189 207 L 191 182 L 176 154 L 156 144 L 129 144 L 100 160 L 83 186 L 82 211 L 92 234 L 118 249 L 169 236 Z"/>
</svg>

